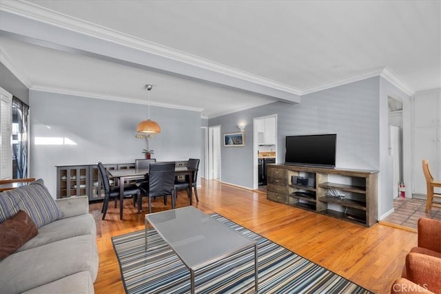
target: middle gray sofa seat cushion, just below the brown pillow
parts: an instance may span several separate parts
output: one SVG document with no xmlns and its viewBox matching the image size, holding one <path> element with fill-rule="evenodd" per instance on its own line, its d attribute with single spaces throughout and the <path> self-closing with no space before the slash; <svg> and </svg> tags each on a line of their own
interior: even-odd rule
<svg viewBox="0 0 441 294">
<path fill-rule="evenodd" d="M 88 272 L 94 282 L 98 254 L 92 235 L 68 238 L 9 255 L 0 262 L 1 291 L 22 293 L 81 271 Z"/>
</svg>

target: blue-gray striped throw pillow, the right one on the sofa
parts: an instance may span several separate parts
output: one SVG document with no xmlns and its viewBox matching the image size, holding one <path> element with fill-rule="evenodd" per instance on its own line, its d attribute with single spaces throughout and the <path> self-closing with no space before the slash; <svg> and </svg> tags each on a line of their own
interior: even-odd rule
<svg viewBox="0 0 441 294">
<path fill-rule="evenodd" d="M 63 217 L 63 213 L 41 179 L 7 192 L 17 197 L 17 206 L 28 213 L 37 228 Z"/>
</svg>

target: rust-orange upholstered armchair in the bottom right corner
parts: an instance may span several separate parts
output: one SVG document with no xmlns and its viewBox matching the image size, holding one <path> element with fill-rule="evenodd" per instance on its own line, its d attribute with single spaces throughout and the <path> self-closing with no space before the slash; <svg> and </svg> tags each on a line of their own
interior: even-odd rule
<svg viewBox="0 0 441 294">
<path fill-rule="evenodd" d="M 391 293 L 441 294 L 441 220 L 418 220 L 418 247 L 406 256 L 402 277 Z"/>
</svg>

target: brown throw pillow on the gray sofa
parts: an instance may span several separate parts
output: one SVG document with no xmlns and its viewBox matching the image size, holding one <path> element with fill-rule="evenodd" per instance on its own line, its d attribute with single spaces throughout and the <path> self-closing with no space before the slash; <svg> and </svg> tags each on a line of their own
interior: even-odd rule
<svg viewBox="0 0 441 294">
<path fill-rule="evenodd" d="M 25 242 L 39 232 L 28 213 L 21 210 L 15 216 L 0 224 L 0 260 L 17 251 Z"/>
</svg>

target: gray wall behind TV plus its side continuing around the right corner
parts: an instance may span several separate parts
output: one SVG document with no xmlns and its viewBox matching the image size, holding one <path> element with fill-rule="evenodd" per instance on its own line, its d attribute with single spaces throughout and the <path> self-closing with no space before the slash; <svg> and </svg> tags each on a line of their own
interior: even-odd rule
<svg viewBox="0 0 441 294">
<path fill-rule="evenodd" d="M 285 136 L 337 134 L 336 167 L 374 169 L 378 174 L 378 218 L 393 211 L 392 160 L 388 153 L 387 97 L 403 103 L 403 157 L 411 158 L 410 97 L 380 76 L 307 94 L 298 105 L 271 103 L 209 120 L 221 132 L 237 132 L 247 122 L 245 148 L 221 149 L 223 182 L 253 187 L 253 118 L 277 114 L 277 162 L 285 160 Z M 410 160 L 404 160 L 404 182 L 411 182 Z M 407 187 L 408 188 L 408 187 Z M 409 187 L 409 191 L 411 187 Z"/>
</svg>

